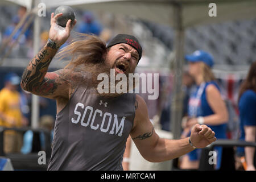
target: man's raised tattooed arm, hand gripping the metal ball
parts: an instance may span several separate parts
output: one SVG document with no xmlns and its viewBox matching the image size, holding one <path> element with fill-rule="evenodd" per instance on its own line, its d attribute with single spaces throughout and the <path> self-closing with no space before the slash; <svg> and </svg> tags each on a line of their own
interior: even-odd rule
<svg viewBox="0 0 256 182">
<path fill-rule="evenodd" d="M 62 14 L 51 15 L 51 28 L 49 38 L 55 45 L 49 44 L 44 46 L 39 53 L 30 61 L 28 67 L 22 75 L 21 87 L 33 94 L 56 99 L 57 97 L 68 98 L 69 96 L 69 79 L 63 71 L 47 73 L 51 60 L 55 56 L 57 49 L 65 43 L 70 35 L 75 23 L 71 26 L 71 20 L 68 20 L 65 31 L 59 34 L 56 27 L 56 19 Z M 76 21 L 75 21 L 76 22 Z"/>
</svg>

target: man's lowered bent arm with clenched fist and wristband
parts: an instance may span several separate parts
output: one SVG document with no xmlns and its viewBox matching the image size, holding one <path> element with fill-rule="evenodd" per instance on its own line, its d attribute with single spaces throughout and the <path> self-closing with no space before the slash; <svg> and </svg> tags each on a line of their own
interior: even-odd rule
<svg viewBox="0 0 256 182">
<path fill-rule="evenodd" d="M 193 150 L 189 138 L 179 140 L 160 138 L 148 118 L 147 106 L 143 98 L 137 95 L 136 100 L 134 127 L 130 135 L 144 159 L 150 162 L 163 162 Z M 191 133 L 191 142 L 198 148 L 203 148 L 216 140 L 214 132 L 205 125 L 193 127 Z"/>
</svg>

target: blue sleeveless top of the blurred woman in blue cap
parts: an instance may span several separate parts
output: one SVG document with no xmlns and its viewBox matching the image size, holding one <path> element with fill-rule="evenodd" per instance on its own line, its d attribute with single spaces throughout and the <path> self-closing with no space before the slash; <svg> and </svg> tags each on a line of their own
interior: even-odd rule
<svg viewBox="0 0 256 182">
<path fill-rule="evenodd" d="M 195 106 L 196 102 L 198 102 L 198 106 L 196 108 L 196 115 L 194 115 L 194 117 L 205 117 L 208 115 L 212 115 L 214 114 L 213 110 L 210 108 L 210 105 L 207 101 L 207 93 L 206 93 L 206 89 L 208 85 L 214 85 L 216 86 L 216 88 L 218 90 L 220 90 L 219 86 L 217 85 L 217 83 L 215 81 L 209 81 L 209 82 L 205 82 L 205 86 L 203 89 L 203 93 L 201 94 L 200 98 L 196 98 L 197 97 L 197 92 L 199 92 L 200 89 L 200 85 L 197 86 L 195 88 L 195 90 L 193 90 L 191 97 L 189 98 L 189 103 L 188 103 L 188 115 L 189 117 L 193 117 L 193 111 L 192 111 L 192 107 Z M 221 125 L 207 125 L 208 127 L 210 127 L 214 133 L 215 133 L 215 137 L 216 138 L 226 138 L 226 124 L 221 124 Z"/>
</svg>

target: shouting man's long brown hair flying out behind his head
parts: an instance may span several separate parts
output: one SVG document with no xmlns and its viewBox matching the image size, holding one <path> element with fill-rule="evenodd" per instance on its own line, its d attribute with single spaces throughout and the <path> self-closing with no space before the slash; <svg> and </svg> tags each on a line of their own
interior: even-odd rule
<svg viewBox="0 0 256 182">
<path fill-rule="evenodd" d="M 60 57 L 60 60 L 71 57 L 71 61 L 64 69 L 67 71 L 65 72 L 67 77 L 68 75 L 73 75 L 73 72 L 76 73 L 76 79 L 72 82 L 73 87 L 86 83 L 86 85 L 92 86 L 97 90 L 97 86 L 101 82 L 101 80 L 97 80 L 98 75 L 106 73 L 110 77 L 112 65 L 106 64 L 106 55 L 109 49 L 106 48 L 106 43 L 97 36 L 76 33 L 76 38 L 72 40 L 71 44 L 61 49 L 57 56 Z M 89 76 L 84 78 L 84 75 L 88 75 L 87 73 L 89 73 Z M 115 80 L 112 83 L 111 79 L 109 79 L 109 85 L 117 85 L 118 82 L 118 80 Z M 127 82 L 129 82 L 128 77 Z M 117 97 L 122 93 L 97 94 L 100 96 Z"/>
</svg>

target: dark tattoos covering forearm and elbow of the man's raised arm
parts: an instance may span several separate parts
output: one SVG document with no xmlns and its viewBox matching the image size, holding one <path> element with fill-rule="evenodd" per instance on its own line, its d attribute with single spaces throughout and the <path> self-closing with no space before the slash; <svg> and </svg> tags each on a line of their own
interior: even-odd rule
<svg viewBox="0 0 256 182">
<path fill-rule="evenodd" d="M 56 90 L 55 79 L 46 76 L 47 69 L 55 53 L 56 50 L 44 47 L 30 61 L 22 75 L 21 85 L 25 90 L 42 96 L 51 94 Z"/>
</svg>

